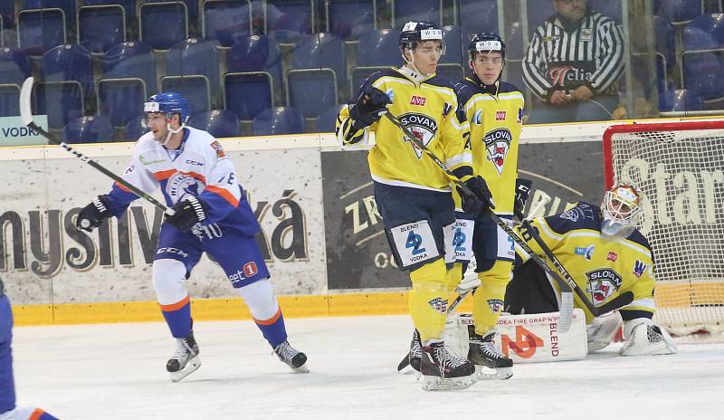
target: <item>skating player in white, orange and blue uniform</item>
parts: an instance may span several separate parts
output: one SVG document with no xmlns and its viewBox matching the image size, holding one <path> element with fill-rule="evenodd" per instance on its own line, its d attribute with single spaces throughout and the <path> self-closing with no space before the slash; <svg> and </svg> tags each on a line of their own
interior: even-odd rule
<svg viewBox="0 0 724 420">
<path fill-rule="evenodd" d="M 202 253 L 224 269 L 281 361 L 294 371 L 306 372 L 307 356 L 287 341 L 270 274 L 254 240 L 260 226 L 231 159 L 211 134 L 186 127 L 188 107 L 180 94 L 153 95 L 144 112 L 150 131 L 138 138 L 122 177 L 148 194 L 160 187 L 175 212 L 161 225 L 153 262 L 158 303 L 177 341 L 167 362 L 171 380 L 176 382 L 201 365 L 184 282 Z M 108 195 L 98 196 L 81 210 L 76 226 L 91 231 L 103 219 L 123 215 L 137 198 L 116 183 Z"/>
</svg>

